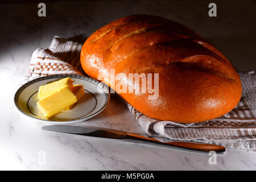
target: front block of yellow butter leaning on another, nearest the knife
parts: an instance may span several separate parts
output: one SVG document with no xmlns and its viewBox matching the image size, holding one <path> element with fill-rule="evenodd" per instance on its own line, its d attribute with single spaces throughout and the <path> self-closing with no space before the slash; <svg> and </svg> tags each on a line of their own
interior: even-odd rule
<svg viewBox="0 0 256 182">
<path fill-rule="evenodd" d="M 37 105 L 38 109 L 44 114 L 44 118 L 51 118 L 66 107 L 75 104 L 76 101 L 76 96 L 66 86 L 38 101 Z"/>
</svg>

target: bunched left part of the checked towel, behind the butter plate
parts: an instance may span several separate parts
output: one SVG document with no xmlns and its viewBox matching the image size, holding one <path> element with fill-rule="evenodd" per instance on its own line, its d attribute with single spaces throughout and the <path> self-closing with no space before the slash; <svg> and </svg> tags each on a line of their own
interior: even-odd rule
<svg viewBox="0 0 256 182">
<path fill-rule="evenodd" d="M 49 48 L 37 48 L 32 53 L 30 67 L 21 84 L 47 75 L 84 75 L 80 64 L 81 48 L 80 43 L 55 36 Z"/>
</svg>

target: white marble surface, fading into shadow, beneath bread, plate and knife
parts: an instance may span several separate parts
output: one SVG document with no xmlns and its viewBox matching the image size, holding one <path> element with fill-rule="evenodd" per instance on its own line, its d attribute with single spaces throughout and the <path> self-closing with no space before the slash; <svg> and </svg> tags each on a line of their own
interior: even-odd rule
<svg viewBox="0 0 256 182">
<path fill-rule="evenodd" d="M 37 4 L 1 5 L 0 169 L 256 170 L 256 152 L 228 149 L 210 165 L 208 154 L 43 131 L 42 124 L 14 106 L 14 93 L 34 49 L 48 47 L 54 35 L 88 36 L 130 14 L 155 14 L 187 24 L 221 49 L 238 70 L 256 70 L 255 1 L 218 2 L 217 8 L 217 17 L 209 18 L 205 1 L 57 2 L 47 3 L 47 17 L 39 18 Z M 80 125 L 143 133 L 115 97 L 102 113 Z"/>
</svg>

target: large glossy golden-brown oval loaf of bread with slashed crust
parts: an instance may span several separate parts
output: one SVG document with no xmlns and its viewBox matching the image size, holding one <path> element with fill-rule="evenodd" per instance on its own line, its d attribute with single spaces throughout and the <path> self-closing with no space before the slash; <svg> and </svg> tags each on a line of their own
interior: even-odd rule
<svg viewBox="0 0 256 182">
<path fill-rule="evenodd" d="M 240 76 L 228 59 L 188 27 L 159 16 L 131 15 L 100 28 L 84 43 L 81 65 L 115 90 L 117 82 L 105 78 L 113 70 L 115 76 L 151 73 L 152 85 L 158 73 L 157 98 L 149 99 L 149 92 L 118 94 L 161 121 L 207 121 L 228 113 L 241 98 Z M 130 90 L 143 85 L 122 81 Z"/>
</svg>

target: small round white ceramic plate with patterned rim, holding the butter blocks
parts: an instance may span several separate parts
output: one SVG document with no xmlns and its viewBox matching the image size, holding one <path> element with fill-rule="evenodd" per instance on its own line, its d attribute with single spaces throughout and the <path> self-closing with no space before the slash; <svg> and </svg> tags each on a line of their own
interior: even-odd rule
<svg viewBox="0 0 256 182">
<path fill-rule="evenodd" d="M 37 93 L 39 86 L 65 77 L 71 77 L 72 80 L 75 81 L 74 84 L 84 85 L 85 96 L 82 97 L 71 110 L 65 110 L 50 119 L 43 118 L 43 114 L 36 106 L 36 102 L 38 102 Z M 92 118 L 105 109 L 109 100 L 109 90 L 101 82 L 85 76 L 67 74 L 36 78 L 21 86 L 14 97 L 16 107 L 23 114 L 37 121 L 53 125 L 75 125 Z"/>
</svg>

